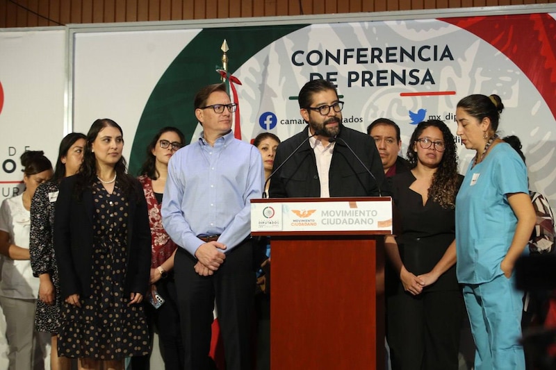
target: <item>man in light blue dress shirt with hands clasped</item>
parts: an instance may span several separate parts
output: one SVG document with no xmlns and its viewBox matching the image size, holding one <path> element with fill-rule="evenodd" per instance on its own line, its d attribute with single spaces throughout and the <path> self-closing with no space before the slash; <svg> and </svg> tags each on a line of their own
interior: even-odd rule
<svg viewBox="0 0 556 370">
<path fill-rule="evenodd" d="M 214 302 L 227 370 L 251 369 L 250 321 L 255 289 L 250 200 L 261 198 L 264 169 L 255 146 L 234 138 L 224 84 L 203 87 L 197 142 L 168 164 L 163 226 L 181 248 L 174 260 L 186 369 L 210 369 Z"/>
</svg>

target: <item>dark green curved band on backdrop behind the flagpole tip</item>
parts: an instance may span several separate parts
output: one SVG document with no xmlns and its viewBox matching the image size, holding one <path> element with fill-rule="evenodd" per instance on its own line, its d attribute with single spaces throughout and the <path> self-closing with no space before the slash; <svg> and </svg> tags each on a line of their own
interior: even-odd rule
<svg viewBox="0 0 556 370">
<path fill-rule="evenodd" d="M 174 59 L 152 91 L 142 112 L 129 158 L 129 174 L 138 174 L 145 148 L 164 126 L 176 126 L 190 142 L 197 126 L 193 98 L 199 88 L 220 82 L 220 47 L 227 40 L 228 70 L 233 72 L 268 44 L 306 25 L 206 28 Z M 241 88 L 241 87 L 238 87 Z"/>
</svg>

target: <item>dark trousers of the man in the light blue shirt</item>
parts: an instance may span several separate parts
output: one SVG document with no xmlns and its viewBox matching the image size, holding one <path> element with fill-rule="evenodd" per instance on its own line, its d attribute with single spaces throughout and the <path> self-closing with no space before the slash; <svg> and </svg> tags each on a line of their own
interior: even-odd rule
<svg viewBox="0 0 556 370">
<path fill-rule="evenodd" d="M 195 272 L 197 260 L 184 249 L 174 259 L 186 370 L 211 369 L 208 357 L 216 301 L 227 370 L 251 369 L 250 333 L 255 291 L 250 239 L 226 253 L 212 276 Z"/>
</svg>

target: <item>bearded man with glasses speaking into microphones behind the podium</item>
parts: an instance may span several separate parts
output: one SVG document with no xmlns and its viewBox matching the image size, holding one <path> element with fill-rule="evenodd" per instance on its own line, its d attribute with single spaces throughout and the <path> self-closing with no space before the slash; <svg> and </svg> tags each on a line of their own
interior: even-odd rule
<svg viewBox="0 0 556 370">
<path fill-rule="evenodd" d="M 375 141 L 343 126 L 336 87 L 309 81 L 299 103 L 309 125 L 278 146 L 270 198 L 389 195 Z"/>
</svg>

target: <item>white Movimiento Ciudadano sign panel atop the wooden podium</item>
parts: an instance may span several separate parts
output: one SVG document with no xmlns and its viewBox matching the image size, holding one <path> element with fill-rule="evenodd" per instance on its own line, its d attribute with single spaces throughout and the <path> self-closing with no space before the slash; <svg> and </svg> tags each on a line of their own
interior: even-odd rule
<svg viewBox="0 0 556 370">
<path fill-rule="evenodd" d="M 341 235 L 392 233 L 389 197 L 341 199 L 254 199 L 251 203 L 253 235 L 276 232 L 318 232 Z"/>
</svg>

